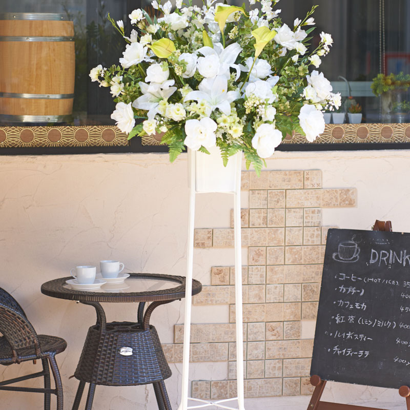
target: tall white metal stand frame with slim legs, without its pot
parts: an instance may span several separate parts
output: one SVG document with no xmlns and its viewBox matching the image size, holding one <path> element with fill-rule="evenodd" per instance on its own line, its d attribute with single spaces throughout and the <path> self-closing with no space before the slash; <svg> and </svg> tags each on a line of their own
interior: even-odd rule
<svg viewBox="0 0 410 410">
<path fill-rule="evenodd" d="M 241 156 L 238 155 L 235 163 L 235 186 L 231 190 L 198 190 L 196 186 L 196 155 L 190 153 L 189 161 L 189 219 L 188 219 L 188 249 L 187 249 L 187 279 L 185 292 L 185 326 L 183 334 L 183 363 L 181 402 L 178 410 L 204 408 L 216 406 L 228 410 L 245 410 L 243 387 L 243 327 L 242 327 L 242 255 L 241 255 L 241 217 L 240 217 L 240 176 Z M 230 159 L 231 160 L 231 159 Z M 221 159 L 219 158 L 219 161 Z M 189 364 L 190 364 L 190 337 L 191 337 L 191 305 L 192 305 L 192 278 L 194 254 L 194 229 L 195 229 L 195 195 L 199 192 L 224 192 L 234 194 L 234 236 L 235 236 L 235 313 L 236 313 L 236 374 L 237 397 L 208 401 L 188 397 L 189 391 Z M 188 405 L 188 400 L 197 402 Z M 238 408 L 227 405 L 228 402 L 237 400 Z"/>
</svg>

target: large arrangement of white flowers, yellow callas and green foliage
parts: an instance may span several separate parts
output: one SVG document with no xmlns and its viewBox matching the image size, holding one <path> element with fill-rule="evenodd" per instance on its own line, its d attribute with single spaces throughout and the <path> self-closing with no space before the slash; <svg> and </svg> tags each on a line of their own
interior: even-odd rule
<svg viewBox="0 0 410 410">
<path fill-rule="evenodd" d="M 209 153 L 216 145 L 224 165 L 242 150 L 259 173 L 286 134 L 313 142 L 324 131 L 322 110 L 340 107 L 323 73 L 309 72 L 333 39 L 322 32 L 308 51 L 314 27 L 305 27 L 314 25 L 317 6 L 290 28 L 273 10 L 279 0 L 250 0 L 249 11 L 203 1 L 200 8 L 178 0 L 172 10 L 170 1 L 154 0 L 163 16 L 134 10 L 129 18 L 138 31 L 130 37 L 109 16 L 128 44 L 120 66 L 99 65 L 90 77 L 110 87 L 117 103 L 111 118 L 129 138 L 163 133 L 171 161 L 185 146 Z"/>
</svg>

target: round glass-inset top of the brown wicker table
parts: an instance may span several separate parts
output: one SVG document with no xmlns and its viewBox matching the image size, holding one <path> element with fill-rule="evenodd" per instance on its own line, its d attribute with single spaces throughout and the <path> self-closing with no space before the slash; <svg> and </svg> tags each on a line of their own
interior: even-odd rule
<svg viewBox="0 0 410 410">
<path fill-rule="evenodd" d="M 42 284 L 42 293 L 60 299 L 80 302 L 151 302 L 176 300 L 185 297 L 185 276 L 155 273 L 130 273 L 122 284 L 101 286 L 96 291 L 79 291 L 66 283 L 72 277 L 58 278 Z M 174 285 L 174 286 L 173 286 Z M 198 294 L 202 285 L 192 280 L 192 295 Z"/>
</svg>

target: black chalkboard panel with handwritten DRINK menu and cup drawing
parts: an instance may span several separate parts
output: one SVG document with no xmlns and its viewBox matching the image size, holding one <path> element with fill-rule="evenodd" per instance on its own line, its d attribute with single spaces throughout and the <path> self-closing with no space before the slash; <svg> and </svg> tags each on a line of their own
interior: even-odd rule
<svg viewBox="0 0 410 410">
<path fill-rule="evenodd" d="M 410 386 L 410 234 L 327 234 L 311 375 Z"/>
</svg>

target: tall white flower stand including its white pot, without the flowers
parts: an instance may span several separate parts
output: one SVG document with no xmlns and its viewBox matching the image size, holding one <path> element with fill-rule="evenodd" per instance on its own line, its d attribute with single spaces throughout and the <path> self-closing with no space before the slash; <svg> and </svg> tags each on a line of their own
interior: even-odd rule
<svg viewBox="0 0 410 410">
<path fill-rule="evenodd" d="M 243 333 L 242 333 L 242 260 L 241 260 L 241 219 L 240 219 L 240 177 L 242 152 L 229 157 L 227 167 L 223 166 L 219 148 L 212 147 L 211 155 L 188 149 L 188 183 L 189 183 L 189 221 L 187 280 L 185 298 L 185 326 L 183 335 L 182 393 L 178 410 L 216 406 L 229 410 L 237 410 L 228 405 L 230 401 L 238 401 L 238 410 L 244 410 L 243 388 Z M 235 312 L 236 312 L 236 376 L 237 397 L 223 400 L 207 401 L 188 397 L 190 336 L 191 336 L 191 303 L 192 276 L 194 254 L 194 220 L 195 195 L 199 193 L 227 193 L 234 195 L 234 235 L 235 235 Z M 195 405 L 188 405 L 188 401 Z"/>
</svg>

